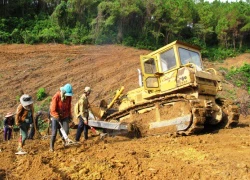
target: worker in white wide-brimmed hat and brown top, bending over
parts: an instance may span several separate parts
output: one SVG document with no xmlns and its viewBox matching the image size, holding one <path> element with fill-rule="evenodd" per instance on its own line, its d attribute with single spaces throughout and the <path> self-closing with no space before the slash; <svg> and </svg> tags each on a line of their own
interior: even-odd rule
<svg viewBox="0 0 250 180">
<path fill-rule="evenodd" d="M 27 139 L 30 124 L 34 123 L 34 106 L 32 97 L 28 94 L 23 94 L 20 98 L 21 104 L 17 107 L 16 125 L 20 127 L 20 139 L 18 144 L 18 152 L 24 152 L 23 146 Z"/>
</svg>

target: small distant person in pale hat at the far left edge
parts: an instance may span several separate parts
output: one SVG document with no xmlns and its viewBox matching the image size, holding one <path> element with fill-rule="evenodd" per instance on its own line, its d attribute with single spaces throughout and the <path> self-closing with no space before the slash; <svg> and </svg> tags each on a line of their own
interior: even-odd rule
<svg viewBox="0 0 250 180">
<path fill-rule="evenodd" d="M 5 141 L 10 140 L 14 123 L 13 114 L 11 112 L 7 113 L 5 119 L 3 120 Z"/>
</svg>

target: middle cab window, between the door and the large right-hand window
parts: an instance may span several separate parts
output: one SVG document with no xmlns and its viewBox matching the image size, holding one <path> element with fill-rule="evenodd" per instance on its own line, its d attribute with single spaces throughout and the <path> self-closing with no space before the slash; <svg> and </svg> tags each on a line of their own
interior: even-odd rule
<svg viewBox="0 0 250 180">
<path fill-rule="evenodd" d="M 164 53 L 160 54 L 161 69 L 165 72 L 176 66 L 176 59 L 174 54 L 174 49 L 170 49 Z"/>
</svg>

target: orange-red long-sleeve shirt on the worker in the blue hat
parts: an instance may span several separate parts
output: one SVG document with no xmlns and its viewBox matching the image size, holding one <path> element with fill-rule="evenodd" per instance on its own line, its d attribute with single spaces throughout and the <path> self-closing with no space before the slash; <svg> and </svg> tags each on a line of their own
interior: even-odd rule
<svg viewBox="0 0 250 180">
<path fill-rule="evenodd" d="M 66 96 L 64 101 L 61 100 L 61 92 L 58 91 L 52 98 L 50 105 L 50 115 L 54 118 L 68 118 L 72 117 L 71 115 L 71 96 Z"/>
</svg>

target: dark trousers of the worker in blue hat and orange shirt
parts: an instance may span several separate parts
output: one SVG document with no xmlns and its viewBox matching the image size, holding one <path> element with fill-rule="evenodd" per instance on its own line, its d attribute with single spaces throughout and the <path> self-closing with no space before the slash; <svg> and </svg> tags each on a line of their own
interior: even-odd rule
<svg viewBox="0 0 250 180">
<path fill-rule="evenodd" d="M 64 118 L 61 121 L 61 124 L 63 126 L 64 131 L 66 132 L 66 134 L 69 134 L 69 118 Z M 53 117 L 51 118 L 51 139 L 50 139 L 50 148 L 54 149 L 54 144 L 56 141 L 56 135 L 57 135 L 57 130 L 59 129 L 59 134 L 63 139 L 62 133 L 60 131 L 61 126 L 58 123 L 58 120 L 54 119 Z M 64 140 L 64 139 L 63 139 Z"/>
</svg>

